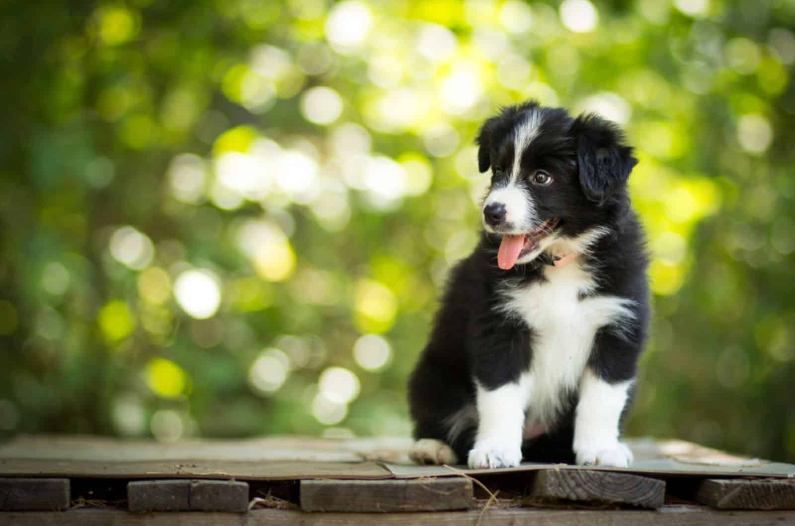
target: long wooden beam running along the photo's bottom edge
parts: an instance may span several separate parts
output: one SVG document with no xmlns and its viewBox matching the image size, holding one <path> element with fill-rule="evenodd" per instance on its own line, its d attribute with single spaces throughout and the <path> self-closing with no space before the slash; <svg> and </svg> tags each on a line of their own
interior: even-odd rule
<svg viewBox="0 0 795 526">
<path fill-rule="evenodd" d="M 793 524 L 795 511 L 723 512 L 704 506 L 663 506 L 650 510 L 583 509 L 472 509 L 464 512 L 304 513 L 259 509 L 245 515 L 223 512 L 153 512 L 145 515 L 126 510 L 72 509 L 67 512 L 0 512 L 0 524 L 14 526 L 343 526 L 343 524 L 387 524 L 388 526 L 761 526 Z"/>
</svg>

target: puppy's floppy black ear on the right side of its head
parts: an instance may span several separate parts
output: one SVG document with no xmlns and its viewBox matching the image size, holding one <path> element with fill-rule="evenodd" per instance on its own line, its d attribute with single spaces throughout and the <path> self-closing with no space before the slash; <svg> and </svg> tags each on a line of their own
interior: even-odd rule
<svg viewBox="0 0 795 526">
<path fill-rule="evenodd" d="M 601 207 L 615 191 L 623 188 L 638 160 L 624 144 L 619 127 L 595 115 L 581 115 L 572 124 L 577 141 L 577 166 L 580 185 Z"/>
</svg>

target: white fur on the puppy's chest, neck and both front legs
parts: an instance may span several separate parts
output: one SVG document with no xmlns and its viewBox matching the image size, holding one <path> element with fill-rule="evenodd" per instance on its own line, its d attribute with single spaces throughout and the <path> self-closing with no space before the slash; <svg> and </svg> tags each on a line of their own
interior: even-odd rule
<svg viewBox="0 0 795 526">
<path fill-rule="evenodd" d="M 583 251 L 605 233 L 605 230 L 591 230 L 576 239 L 553 241 L 557 243 L 553 248 Z M 611 465 L 626 463 L 623 462 L 627 458 L 626 451 L 615 444 L 618 444 L 618 418 L 626 403 L 628 384 L 610 390 L 603 388 L 607 385 L 605 382 L 603 385 L 594 383 L 591 381 L 593 375 L 589 377 L 584 372 L 596 331 L 609 324 L 621 327 L 626 320 L 632 319 L 633 302 L 619 296 L 581 299 L 581 295 L 594 291 L 596 283 L 580 259 L 563 267 L 547 266 L 544 273 L 544 281 L 522 287 L 508 283 L 502 288 L 506 301 L 499 310 L 504 315 L 520 317 L 533 329 L 533 357 L 529 370 L 522 373 L 518 383 L 491 392 L 478 389 L 480 424 L 478 439 L 469 457 L 470 466 L 491 467 L 501 462 L 502 465 L 516 465 L 511 460 L 518 462 L 517 454 L 521 458 L 518 450 L 522 443 L 522 424 L 516 423 L 517 415 L 526 410 L 526 416 L 522 417 L 525 430 L 549 429 L 563 409 L 562 395 L 578 387 L 584 389 L 580 396 L 585 396 L 577 412 L 578 419 L 582 415 L 583 422 L 578 435 L 583 451 L 581 459 Z M 612 397 L 605 402 L 605 408 L 588 417 L 606 393 Z M 623 398 L 620 393 L 624 393 Z M 595 424 L 603 418 L 607 420 L 600 424 L 602 427 Z M 576 426 L 580 427 L 580 420 L 576 421 Z M 612 435 L 604 431 L 607 427 Z M 608 435 L 614 437 L 613 441 L 606 438 Z M 499 462 L 493 462 L 492 457 Z"/>
</svg>

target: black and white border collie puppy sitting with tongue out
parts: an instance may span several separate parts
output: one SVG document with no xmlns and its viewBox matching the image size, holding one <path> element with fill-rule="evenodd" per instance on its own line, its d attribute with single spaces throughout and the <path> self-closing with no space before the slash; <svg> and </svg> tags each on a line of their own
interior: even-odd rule
<svg viewBox="0 0 795 526">
<path fill-rule="evenodd" d="M 537 102 L 502 109 L 477 143 L 484 231 L 409 381 L 410 456 L 626 467 L 619 428 L 650 317 L 626 191 L 638 161 L 611 122 Z"/>
</svg>

